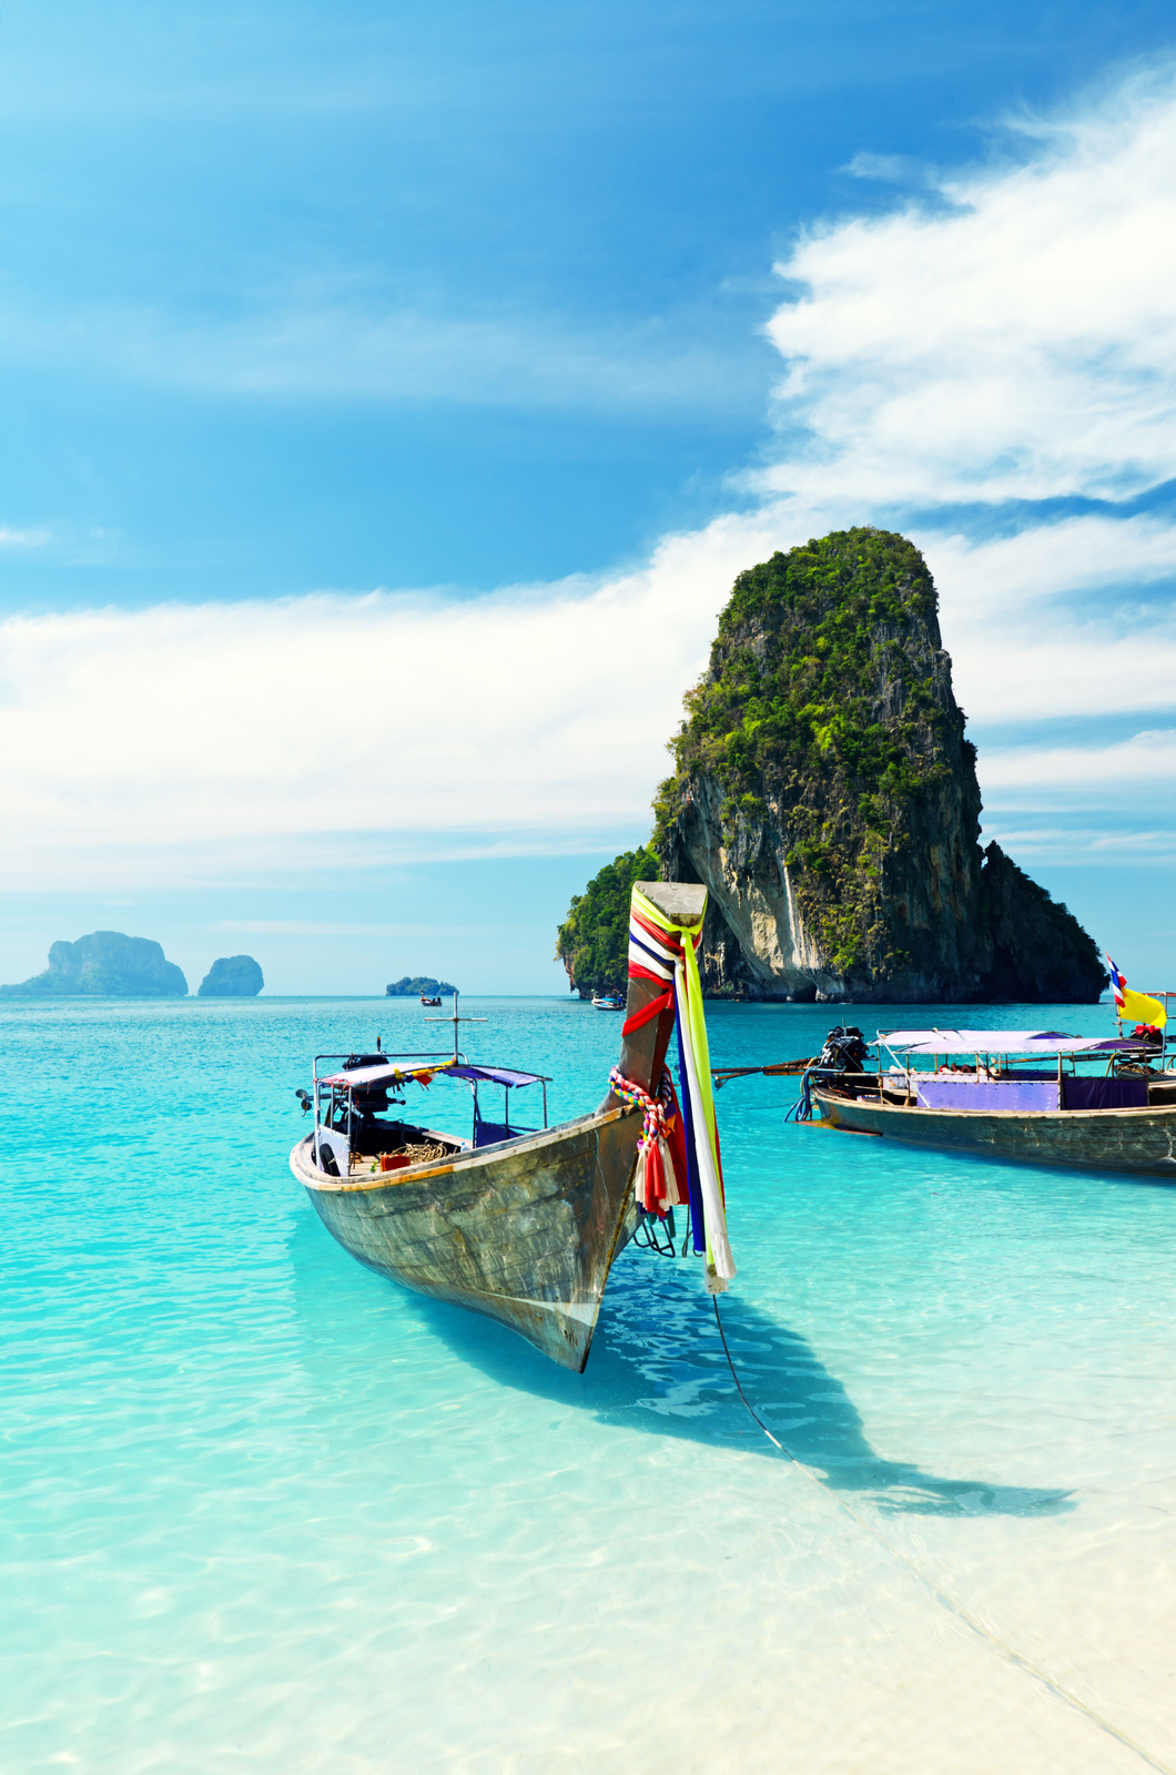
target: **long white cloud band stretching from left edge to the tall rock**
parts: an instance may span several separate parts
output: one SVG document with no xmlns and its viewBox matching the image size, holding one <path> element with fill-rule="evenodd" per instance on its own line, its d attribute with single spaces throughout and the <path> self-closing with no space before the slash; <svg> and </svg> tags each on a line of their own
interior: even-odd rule
<svg viewBox="0 0 1176 1775">
<path fill-rule="evenodd" d="M 66 859 L 139 882 L 323 870 L 369 832 L 640 831 L 727 588 L 775 543 L 769 520 L 719 520 L 595 588 L 469 602 L 11 618 L 0 820 L 23 841 L 0 880 Z"/>
</svg>

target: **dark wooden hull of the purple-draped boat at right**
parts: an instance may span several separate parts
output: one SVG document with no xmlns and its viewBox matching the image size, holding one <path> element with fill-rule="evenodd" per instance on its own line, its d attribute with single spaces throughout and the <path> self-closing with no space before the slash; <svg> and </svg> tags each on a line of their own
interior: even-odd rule
<svg viewBox="0 0 1176 1775">
<path fill-rule="evenodd" d="M 858 1134 L 989 1159 L 1135 1172 L 1176 1182 L 1176 1106 L 1153 1109 L 915 1109 L 814 1090 L 821 1118 Z"/>
</svg>

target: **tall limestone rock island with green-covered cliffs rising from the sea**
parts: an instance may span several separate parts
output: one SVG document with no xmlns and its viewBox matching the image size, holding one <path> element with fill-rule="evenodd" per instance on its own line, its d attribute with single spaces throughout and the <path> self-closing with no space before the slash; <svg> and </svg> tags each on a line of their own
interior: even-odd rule
<svg viewBox="0 0 1176 1775">
<path fill-rule="evenodd" d="M 838 531 L 741 573 L 686 712 L 654 848 L 711 889 L 709 992 L 1098 999 L 1078 921 L 981 850 L 975 747 L 906 538 Z"/>
</svg>

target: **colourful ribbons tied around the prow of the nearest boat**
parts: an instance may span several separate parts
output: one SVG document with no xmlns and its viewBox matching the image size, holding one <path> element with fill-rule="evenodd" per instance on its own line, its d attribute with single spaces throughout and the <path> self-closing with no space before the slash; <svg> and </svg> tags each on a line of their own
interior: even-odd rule
<svg viewBox="0 0 1176 1775">
<path fill-rule="evenodd" d="M 700 943 L 702 921 L 698 925 L 675 925 L 640 888 L 632 889 L 629 978 L 648 980 L 661 985 L 663 992 L 625 1019 L 624 1035 L 640 1030 L 663 1010 L 677 1012 L 691 1228 L 695 1250 L 707 1253 L 707 1289 L 721 1294 L 735 1274 L 735 1260 L 727 1237 L 723 1161 L 711 1092 L 711 1049 L 702 1008 L 702 982 L 698 978 L 696 951 Z"/>
</svg>

